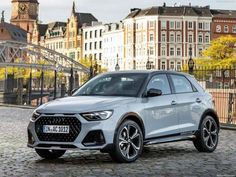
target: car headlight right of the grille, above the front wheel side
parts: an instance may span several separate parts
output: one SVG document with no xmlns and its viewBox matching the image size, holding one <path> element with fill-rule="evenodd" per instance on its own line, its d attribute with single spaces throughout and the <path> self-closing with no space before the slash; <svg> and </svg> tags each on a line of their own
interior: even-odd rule
<svg viewBox="0 0 236 177">
<path fill-rule="evenodd" d="M 113 111 L 97 111 L 90 113 L 81 113 L 80 115 L 88 121 L 98 121 L 109 119 L 113 114 Z"/>
</svg>

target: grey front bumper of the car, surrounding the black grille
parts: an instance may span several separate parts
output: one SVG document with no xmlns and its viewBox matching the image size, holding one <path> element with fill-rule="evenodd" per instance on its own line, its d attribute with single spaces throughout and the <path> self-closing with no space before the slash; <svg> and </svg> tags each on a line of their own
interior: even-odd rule
<svg viewBox="0 0 236 177">
<path fill-rule="evenodd" d="M 113 115 L 114 116 L 114 115 Z M 112 116 L 112 117 L 113 117 Z M 71 139 L 60 138 L 60 141 L 54 141 L 47 137 L 42 140 L 42 137 L 39 135 L 38 126 L 36 126 L 37 121 L 48 118 L 76 118 L 80 122 L 80 131 L 78 136 L 75 137 L 75 140 L 70 141 Z M 116 123 L 111 118 L 103 121 L 87 121 L 79 114 L 74 114 L 73 116 L 67 116 L 63 114 L 54 114 L 54 115 L 45 115 L 42 114 L 36 122 L 30 122 L 28 125 L 28 147 L 36 149 L 82 149 L 82 150 L 98 150 L 104 149 L 107 146 L 113 144 L 113 137 L 116 128 Z M 76 122 L 77 123 L 77 122 Z M 47 124 L 47 122 L 45 122 Z M 60 125 L 60 122 L 56 125 Z M 60 134 L 60 136 L 65 136 Z"/>
</svg>

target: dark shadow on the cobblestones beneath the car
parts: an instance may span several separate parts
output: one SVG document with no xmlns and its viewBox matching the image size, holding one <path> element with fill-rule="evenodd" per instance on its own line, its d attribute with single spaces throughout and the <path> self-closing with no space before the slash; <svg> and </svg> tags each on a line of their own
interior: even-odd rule
<svg viewBox="0 0 236 177">
<path fill-rule="evenodd" d="M 144 147 L 143 153 L 139 158 L 140 161 L 145 161 L 146 159 L 161 159 L 168 158 L 169 156 L 174 156 L 175 158 L 182 157 L 183 155 L 198 153 L 194 148 L 184 148 L 184 147 Z M 88 165 L 88 164 L 111 164 L 114 162 L 109 154 L 100 153 L 99 151 L 82 154 L 81 152 L 73 152 L 65 154 L 63 157 L 54 160 L 39 159 L 36 160 L 39 164 L 71 164 L 71 165 Z"/>
</svg>

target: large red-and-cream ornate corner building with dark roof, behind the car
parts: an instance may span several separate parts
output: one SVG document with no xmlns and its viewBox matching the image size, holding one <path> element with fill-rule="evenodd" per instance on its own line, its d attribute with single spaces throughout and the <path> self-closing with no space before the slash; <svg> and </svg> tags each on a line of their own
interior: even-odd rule
<svg viewBox="0 0 236 177">
<path fill-rule="evenodd" d="M 212 15 L 207 7 L 131 9 L 124 20 L 125 69 L 180 69 L 210 44 Z M 190 49 L 191 48 L 191 49 Z"/>
</svg>

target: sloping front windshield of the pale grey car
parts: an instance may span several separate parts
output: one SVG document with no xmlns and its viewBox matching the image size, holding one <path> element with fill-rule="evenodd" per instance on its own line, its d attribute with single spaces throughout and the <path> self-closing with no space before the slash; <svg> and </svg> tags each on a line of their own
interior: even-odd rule
<svg viewBox="0 0 236 177">
<path fill-rule="evenodd" d="M 114 73 L 95 77 L 73 96 L 127 96 L 136 97 L 148 74 Z"/>
</svg>

